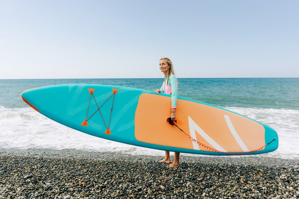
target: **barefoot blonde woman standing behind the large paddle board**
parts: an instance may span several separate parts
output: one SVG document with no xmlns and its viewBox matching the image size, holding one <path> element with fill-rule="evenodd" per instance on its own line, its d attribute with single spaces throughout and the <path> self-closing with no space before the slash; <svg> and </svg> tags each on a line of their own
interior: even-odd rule
<svg viewBox="0 0 299 199">
<path fill-rule="evenodd" d="M 174 74 L 173 65 L 169 58 L 161 58 L 159 62 L 159 68 L 161 72 L 164 73 L 164 81 L 162 87 L 157 90 L 153 90 L 155 93 L 159 94 L 159 92 L 171 94 L 171 111 L 170 117 L 173 121 L 176 121 L 176 101 L 178 99 L 178 81 Z M 179 152 L 174 152 L 174 161 L 171 163 L 169 151 L 165 151 L 165 158 L 160 162 L 171 163 L 168 165 L 168 168 L 178 167 L 179 164 Z"/>
</svg>

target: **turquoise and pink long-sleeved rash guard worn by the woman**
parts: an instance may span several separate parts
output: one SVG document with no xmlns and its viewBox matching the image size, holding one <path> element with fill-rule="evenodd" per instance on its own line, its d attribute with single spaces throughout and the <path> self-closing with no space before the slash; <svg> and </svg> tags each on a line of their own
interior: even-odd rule
<svg viewBox="0 0 299 199">
<path fill-rule="evenodd" d="M 170 74 L 168 84 L 167 84 L 167 78 L 164 78 L 160 90 L 161 93 L 166 93 L 166 94 L 171 93 L 171 108 L 176 109 L 176 101 L 178 100 L 178 81 L 176 79 L 176 76 L 173 75 L 172 73 Z"/>
</svg>

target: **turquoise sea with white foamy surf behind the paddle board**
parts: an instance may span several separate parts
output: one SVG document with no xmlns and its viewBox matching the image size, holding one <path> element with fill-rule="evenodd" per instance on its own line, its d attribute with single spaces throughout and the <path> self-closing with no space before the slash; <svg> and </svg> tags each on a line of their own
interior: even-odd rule
<svg viewBox="0 0 299 199">
<path fill-rule="evenodd" d="M 162 81 L 163 78 L 0 79 L 0 149 L 81 149 L 163 156 L 164 151 L 109 141 L 65 127 L 21 99 L 23 91 L 48 85 L 105 84 L 154 90 L 161 87 Z M 254 156 L 299 159 L 299 78 L 178 78 L 178 81 L 179 96 L 237 112 L 276 130 L 278 149 Z"/>
</svg>

